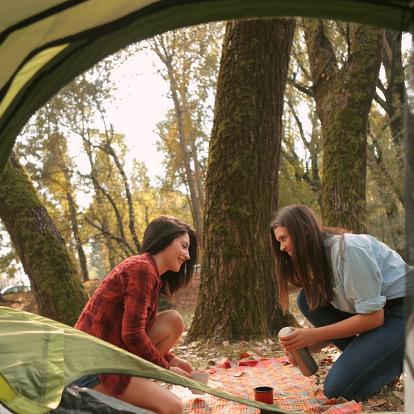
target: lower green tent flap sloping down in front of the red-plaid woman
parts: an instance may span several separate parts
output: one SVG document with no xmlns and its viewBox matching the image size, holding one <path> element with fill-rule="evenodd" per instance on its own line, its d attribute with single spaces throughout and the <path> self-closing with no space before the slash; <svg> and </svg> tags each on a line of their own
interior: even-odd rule
<svg viewBox="0 0 414 414">
<path fill-rule="evenodd" d="M 88 373 L 118 373 L 197 386 L 227 400 L 288 413 L 199 384 L 52 319 L 0 306 L 3 405 L 19 414 L 47 413 L 59 405 L 63 388 Z"/>
</svg>

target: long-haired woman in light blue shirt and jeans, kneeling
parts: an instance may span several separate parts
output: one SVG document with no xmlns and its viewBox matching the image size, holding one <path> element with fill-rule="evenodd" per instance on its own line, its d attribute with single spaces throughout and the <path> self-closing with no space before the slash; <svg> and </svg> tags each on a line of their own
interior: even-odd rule
<svg viewBox="0 0 414 414">
<path fill-rule="evenodd" d="M 402 374 L 404 296 L 408 266 L 369 235 L 322 228 L 302 204 L 280 210 L 271 224 L 279 302 L 288 309 L 289 286 L 302 288 L 299 310 L 314 328 L 279 338 L 286 356 L 329 343 L 342 351 L 326 376 L 328 398 L 359 400 Z"/>
</svg>

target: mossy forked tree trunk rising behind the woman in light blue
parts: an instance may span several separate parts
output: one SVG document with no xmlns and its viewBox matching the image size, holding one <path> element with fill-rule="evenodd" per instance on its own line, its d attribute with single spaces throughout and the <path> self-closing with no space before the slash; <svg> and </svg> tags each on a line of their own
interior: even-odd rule
<svg viewBox="0 0 414 414">
<path fill-rule="evenodd" d="M 355 25 L 339 68 L 324 22 L 304 19 L 324 140 L 322 215 L 327 226 L 366 231 L 366 130 L 382 57 L 382 30 Z"/>
</svg>

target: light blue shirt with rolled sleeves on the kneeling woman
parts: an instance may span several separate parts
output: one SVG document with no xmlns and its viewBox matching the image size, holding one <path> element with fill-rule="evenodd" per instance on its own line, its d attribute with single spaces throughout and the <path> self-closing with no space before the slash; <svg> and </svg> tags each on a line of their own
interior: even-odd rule
<svg viewBox="0 0 414 414">
<path fill-rule="evenodd" d="M 386 299 L 405 296 L 408 265 L 386 244 L 370 235 L 346 233 L 344 239 L 328 237 L 325 245 L 333 264 L 335 308 L 371 313 L 384 307 Z"/>
</svg>

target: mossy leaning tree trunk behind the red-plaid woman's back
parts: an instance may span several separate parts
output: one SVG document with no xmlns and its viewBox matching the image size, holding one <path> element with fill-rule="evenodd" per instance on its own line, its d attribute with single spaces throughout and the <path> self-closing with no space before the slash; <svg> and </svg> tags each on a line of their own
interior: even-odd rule
<svg viewBox="0 0 414 414">
<path fill-rule="evenodd" d="M 0 218 L 30 279 L 40 315 L 75 325 L 89 295 L 59 231 L 13 153 L 0 181 Z"/>
</svg>

